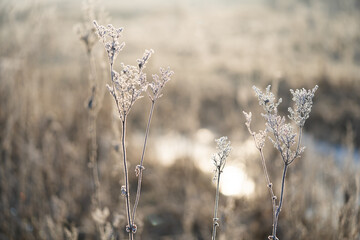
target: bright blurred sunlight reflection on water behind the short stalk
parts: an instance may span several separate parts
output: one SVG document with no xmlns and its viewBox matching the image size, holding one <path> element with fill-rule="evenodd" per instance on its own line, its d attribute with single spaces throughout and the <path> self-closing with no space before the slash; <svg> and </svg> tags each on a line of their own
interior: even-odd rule
<svg viewBox="0 0 360 240">
<path fill-rule="evenodd" d="M 175 132 L 169 133 L 158 137 L 155 154 L 159 162 L 165 166 L 170 166 L 180 158 L 194 159 L 195 166 L 204 173 L 212 174 L 214 165 L 211 156 L 216 152 L 215 138 L 208 129 L 198 130 L 194 139 Z M 256 149 L 251 139 L 243 143 L 232 142 L 232 146 L 227 166 L 221 175 L 220 191 L 227 196 L 248 197 L 254 192 L 255 183 L 247 176 L 241 160 L 248 155 L 256 154 Z"/>
</svg>

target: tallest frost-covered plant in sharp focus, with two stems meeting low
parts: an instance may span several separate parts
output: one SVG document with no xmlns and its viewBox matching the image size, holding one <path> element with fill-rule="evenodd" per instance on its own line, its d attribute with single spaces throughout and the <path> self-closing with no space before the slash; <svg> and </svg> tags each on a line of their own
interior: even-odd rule
<svg viewBox="0 0 360 240">
<path fill-rule="evenodd" d="M 153 115 L 155 103 L 162 96 L 161 92 L 164 88 L 165 84 L 170 80 L 173 75 L 173 71 L 170 68 L 160 68 L 160 76 L 154 74 L 153 81 L 149 82 L 146 78 L 146 74 L 143 70 L 146 67 L 148 60 L 154 51 L 145 50 L 142 58 L 137 60 L 137 65 L 125 65 L 121 64 L 122 70 L 120 72 L 116 72 L 113 69 L 114 61 L 118 56 L 119 52 L 124 48 L 125 43 L 120 43 L 119 38 L 121 37 L 121 33 L 123 31 L 122 28 L 115 28 L 111 24 L 107 27 L 98 25 L 96 21 L 94 21 L 94 26 L 97 29 L 97 34 L 100 38 L 100 41 L 103 42 L 105 50 L 108 55 L 109 64 L 110 64 L 110 73 L 111 73 L 111 84 L 107 85 L 107 88 L 114 98 L 119 118 L 122 126 L 122 152 L 123 152 L 123 166 L 124 166 L 124 182 L 125 185 L 121 187 L 121 195 L 125 197 L 126 203 L 126 216 L 128 225 L 126 226 L 126 231 L 129 233 L 129 239 L 133 239 L 134 233 L 137 231 L 137 226 L 135 224 L 135 214 L 136 209 L 140 200 L 141 193 L 141 183 L 142 183 L 142 175 L 145 167 L 143 166 L 144 157 L 145 157 L 145 149 L 147 144 L 147 138 L 150 130 L 151 118 Z M 150 88 L 150 92 L 147 92 L 148 87 Z M 140 164 L 135 167 L 135 174 L 138 177 L 138 186 L 135 197 L 134 207 L 131 212 L 130 205 L 130 192 L 129 192 L 129 179 L 128 179 L 128 165 L 126 158 L 126 120 L 127 116 L 130 113 L 132 106 L 135 102 L 142 98 L 143 95 L 147 92 L 150 100 L 151 100 L 151 108 L 148 118 L 148 123 L 145 131 L 145 138 L 143 144 L 143 150 L 141 154 Z"/>
</svg>

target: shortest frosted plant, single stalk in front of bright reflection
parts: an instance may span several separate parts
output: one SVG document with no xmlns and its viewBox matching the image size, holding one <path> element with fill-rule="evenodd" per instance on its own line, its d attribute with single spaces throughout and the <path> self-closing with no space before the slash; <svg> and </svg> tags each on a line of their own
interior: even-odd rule
<svg viewBox="0 0 360 240">
<path fill-rule="evenodd" d="M 218 205 L 219 205 L 219 188 L 220 188 L 220 176 L 224 170 L 227 157 L 231 152 L 230 141 L 227 137 L 221 137 L 215 140 L 218 150 L 217 153 L 213 154 L 212 161 L 215 166 L 215 176 L 213 178 L 216 181 L 216 195 L 215 195 L 215 206 L 214 206 L 214 218 L 213 218 L 213 232 L 212 240 L 216 239 L 216 228 L 219 226 L 219 218 L 217 216 Z"/>
</svg>

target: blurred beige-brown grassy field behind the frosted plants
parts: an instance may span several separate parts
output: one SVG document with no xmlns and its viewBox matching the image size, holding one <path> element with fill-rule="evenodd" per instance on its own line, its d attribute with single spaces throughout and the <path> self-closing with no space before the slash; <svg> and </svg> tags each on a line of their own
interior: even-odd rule
<svg viewBox="0 0 360 240">
<path fill-rule="evenodd" d="M 222 179 L 219 239 L 267 239 L 271 202 L 242 111 L 252 91 L 271 84 L 291 106 L 289 89 L 319 90 L 305 125 L 306 152 L 291 165 L 279 238 L 360 239 L 360 1 L 96 1 L 124 27 L 117 59 L 145 72 L 170 66 L 150 129 L 136 239 L 210 239 L 215 186 L 211 154 L 227 135 L 233 151 Z M 86 10 L 85 10 L 86 12 Z M 97 239 L 88 167 L 89 64 L 76 25 L 81 1 L 0 0 L 0 239 Z M 110 81 L 101 43 L 97 76 Z M 128 124 L 130 169 L 139 162 L 150 102 Z M 256 116 L 256 117 L 255 117 Z M 97 119 L 101 201 L 115 239 L 126 239 L 119 122 L 106 92 Z M 267 143 L 279 195 L 282 162 Z M 131 192 L 136 177 L 130 171 Z"/>
</svg>

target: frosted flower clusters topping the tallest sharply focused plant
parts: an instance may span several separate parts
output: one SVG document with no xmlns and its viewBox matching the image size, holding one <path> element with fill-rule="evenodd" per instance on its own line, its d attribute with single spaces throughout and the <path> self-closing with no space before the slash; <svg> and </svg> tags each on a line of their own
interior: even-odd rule
<svg viewBox="0 0 360 240">
<path fill-rule="evenodd" d="M 155 101 L 162 96 L 161 91 L 165 84 L 170 80 L 173 71 L 170 68 L 160 68 L 160 76 L 154 74 L 153 81 L 148 82 L 146 74 L 143 70 L 146 67 L 154 50 L 145 50 L 142 58 L 137 59 L 137 66 L 122 64 L 122 71 L 116 72 L 112 69 L 114 60 L 118 53 L 123 49 L 125 43 L 119 43 L 119 38 L 123 28 L 115 28 L 111 24 L 107 27 L 98 25 L 94 21 L 99 38 L 104 43 L 105 49 L 108 53 L 108 58 L 111 66 L 111 80 L 112 85 L 107 85 L 110 94 L 114 97 L 116 105 L 119 110 L 120 119 L 123 121 L 126 115 L 130 112 L 131 107 L 135 101 L 142 98 L 142 93 L 146 92 L 148 86 L 151 92 L 148 93 L 150 99 Z M 110 38 L 108 40 L 107 38 Z"/>
</svg>

